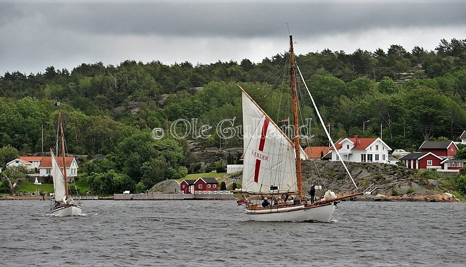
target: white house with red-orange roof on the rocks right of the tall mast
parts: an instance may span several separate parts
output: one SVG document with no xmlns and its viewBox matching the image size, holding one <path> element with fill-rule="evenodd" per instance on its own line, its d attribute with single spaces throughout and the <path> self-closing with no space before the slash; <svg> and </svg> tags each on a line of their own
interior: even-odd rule
<svg viewBox="0 0 466 267">
<path fill-rule="evenodd" d="M 344 161 L 351 162 L 380 162 L 389 163 L 388 151 L 392 150 L 380 138 L 354 137 L 340 138 L 335 147 Z M 329 149 L 332 153 L 332 161 L 339 161 L 333 147 Z"/>
</svg>

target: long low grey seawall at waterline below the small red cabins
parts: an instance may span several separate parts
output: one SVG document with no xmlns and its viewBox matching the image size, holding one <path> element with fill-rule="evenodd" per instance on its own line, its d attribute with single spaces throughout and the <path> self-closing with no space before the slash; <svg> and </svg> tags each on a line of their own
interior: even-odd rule
<svg viewBox="0 0 466 267">
<path fill-rule="evenodd" d="M 114 200 L 233 200 L 229 194 L 115 194 Z"/>
</svg>

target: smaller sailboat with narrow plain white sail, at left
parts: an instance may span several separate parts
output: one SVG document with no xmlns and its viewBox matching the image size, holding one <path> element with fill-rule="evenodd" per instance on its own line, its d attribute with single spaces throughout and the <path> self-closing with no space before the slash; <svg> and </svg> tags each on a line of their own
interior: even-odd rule
<svg viewBox="0 0 466 267">
<path fill-rule="evenodd" d="M 59 105 L 58 103 L 56 105 Z M 69 194 L 68 178 L 67 178 L 67 165 L 65 160 L 65 135 L 63 134 L 63 120 L 62 111 L 58 111 L 58 127 L 61 137 L 62 155 L 56 157 L 52 150 L 50 150 L 52 169 L 51 174 L 53 177 L 53 191 L 54 196 L 50 198 L 50 215 L 54 216 L 78 216 L 81 215 L 82 209 L 79 201 L 75 202 Z M 57 140 L 58 147 L 58 140 Z M 58 156 L 58 154 L 57 154 Z M 60 167 L 58 161 L 62 161 L 63 168 Z"/>
</svg>

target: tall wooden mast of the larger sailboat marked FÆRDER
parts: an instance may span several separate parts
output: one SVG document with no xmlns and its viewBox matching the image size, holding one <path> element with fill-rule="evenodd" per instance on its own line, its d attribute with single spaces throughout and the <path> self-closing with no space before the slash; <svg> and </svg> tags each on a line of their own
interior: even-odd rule
<svg viewBox="0 0 466 267">
<path fill-rule="evenodd" d="M 298 180 L 298 192 L 300 200 L 304 200 L 302 194 L 302 173 L 301 173 L 301 146 L 300 146 L 300 131 L 298 123 L 298 92 L 296 90 L 295 81 L 295 54 L 293 51 L 293 36 L 290 35 L 290 81 L 291 92 L 293 96 L 293 119 L 295 123 L 295 150 L 296 150 L 296 176 Z"/>
</svg>

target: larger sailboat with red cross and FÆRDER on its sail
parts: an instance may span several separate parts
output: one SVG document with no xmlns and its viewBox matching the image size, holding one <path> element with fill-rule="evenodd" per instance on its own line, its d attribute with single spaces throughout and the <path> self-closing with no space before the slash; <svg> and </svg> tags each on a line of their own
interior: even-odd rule
<svg viewBox="0 0 466 267">
<path fill-rule="evenodd" d="M 296 68 L 299 71 L 297 66 Z M 305 153 L 300 146 L 295 74 L 293 37 L 290 35 L 290 80 L 295 128 L 294 140 L 286 136 L 266 112 L 238 85 L 242 91 L 244 136 L 243 187 L 240 192 L 266 196 L 271 200 L 270 203 L 264 204 L 264 201 L 268 202 L 265 198 L 262 205 L 259 205 L 243 199 L 246 204 L 246 217 L 253 221 L 330 222 L 339 200 L 363 194 L 358 192 L 336 197 L 329 190 L 322 200 L 314 203 L 306 200 L 303 194 L 301 175 L 301 160 L 305 159 Z M 302 81 L 304 82 L 304 79 Z M 309 89 L 307 91 L 329 141 L 334 147 L 332 138 L 327 132 L 314 99 Z M 338 153 L 338 150 L 335 149 L 335 151 Z M 340 156 L 339 158 L 341 159 Z M 343 161 L 342 163 L 345 164 Z M 354 186 L 358 189 L 348 168 L 346 165 L 344 166 Z M 292 202 L 288 201 L 293 196 L 295 199 Z M 275 201 L 272 201 L 274 198 Z M 275 203 L 272 204 L 272 202 Z"/>
</svg>

